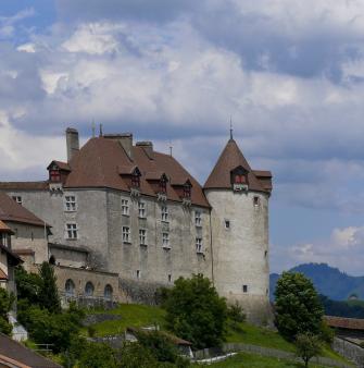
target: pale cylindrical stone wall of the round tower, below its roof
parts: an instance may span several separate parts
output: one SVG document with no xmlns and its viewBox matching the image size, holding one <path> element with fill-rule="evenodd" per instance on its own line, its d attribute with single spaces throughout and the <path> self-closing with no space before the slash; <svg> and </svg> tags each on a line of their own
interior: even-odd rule
<svg viewBox="0 0 364 368">
<path fill-rule="evenodd" d="M 239 302 L 249 320 L 268 320 L 268 196 L 210 189 L 206 197 L 212 206 L 213 273 L 218 293 L 229 303 Z"/>
</svg>

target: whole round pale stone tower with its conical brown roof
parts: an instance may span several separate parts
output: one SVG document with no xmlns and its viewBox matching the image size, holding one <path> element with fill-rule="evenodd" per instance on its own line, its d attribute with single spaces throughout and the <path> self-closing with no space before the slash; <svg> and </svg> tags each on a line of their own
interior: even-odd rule
<svg viewBox="0 0 364 368">
<path fill-rule="evenodd" d="M 204 185 L 212 207 L 213 282 L 229 304 L 238 302 L 255 323 L 271 319 L 271 172 L 252 170 L 231 136 Z"/>
</svg>

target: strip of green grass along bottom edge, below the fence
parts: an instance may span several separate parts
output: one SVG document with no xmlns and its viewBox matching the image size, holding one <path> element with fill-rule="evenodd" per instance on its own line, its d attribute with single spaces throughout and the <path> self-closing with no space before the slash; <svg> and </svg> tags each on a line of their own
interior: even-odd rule
<svg viewBox="0 0 364 368">
<path fill-rule="evenodd" d="M 264 357 L 260 355 L 239 353 L 236 356 L 221 363 L 210 366 L 192 365 L 193 368 L 213 367 L 213 368 L 301 368 L 302 364 L 289 360 Z M 322 368 L 323 366 L 310 365 L 310 368 Z"/>
</svg>

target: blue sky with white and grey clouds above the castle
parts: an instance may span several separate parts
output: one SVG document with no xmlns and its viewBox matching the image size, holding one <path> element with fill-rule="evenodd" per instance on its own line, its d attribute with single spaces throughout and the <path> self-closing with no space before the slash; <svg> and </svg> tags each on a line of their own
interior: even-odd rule
<svg viewBox="0 0 364 368">
<path fill-rule="evenodd" d="M 364 1 L 0 1 L 0 180 L 42 180 L 95 121 L 203 183 L 230 116 L 274 173 L 272 270 L 364 274 Z"/>
</svg>

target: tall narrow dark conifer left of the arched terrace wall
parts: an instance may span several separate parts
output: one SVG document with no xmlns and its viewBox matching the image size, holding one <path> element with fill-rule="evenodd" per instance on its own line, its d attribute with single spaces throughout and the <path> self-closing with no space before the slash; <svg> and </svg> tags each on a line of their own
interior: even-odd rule
<svg viewBox="0 0 364 368">
<path fill-rule="evenodd" d="M 61 300 L 57 289 L 57 278 L 53 266 L 42 262 L 39 270 L 41 278 L 39 305 L 50 312 L 61 312 Z"/>
</svg>

